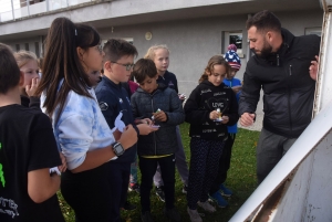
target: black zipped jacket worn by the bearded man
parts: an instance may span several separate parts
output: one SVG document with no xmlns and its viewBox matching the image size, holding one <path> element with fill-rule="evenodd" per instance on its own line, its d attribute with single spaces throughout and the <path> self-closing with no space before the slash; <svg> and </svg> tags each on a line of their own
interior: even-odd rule
<svg viewBox="0 0 332 222">
<path fill-rule="evenodd" d="M 243 76 L 239 115 L 255 113 L 263 89 L 263 127 L 288 138 L 299 137 L 311 121 L 315 81 L 311 61 L 319 55 L 318 35 L 294 36 L 281 30 L 283 43 L 267 57 L 252 56 Z"/>
</svg>

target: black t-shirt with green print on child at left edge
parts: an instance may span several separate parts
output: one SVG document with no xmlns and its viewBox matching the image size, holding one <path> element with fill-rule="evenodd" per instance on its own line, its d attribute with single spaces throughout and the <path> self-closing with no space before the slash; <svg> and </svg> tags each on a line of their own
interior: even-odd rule
<svg viewBox="0 0 332 222">
<path fill-rule="evenodd" d="M 28 172 L 60 166 L 48 116 L 20 105 L 0 107 L 0 221 L 64 222 L 56 194 L 34 203 Z"/>
</svg>

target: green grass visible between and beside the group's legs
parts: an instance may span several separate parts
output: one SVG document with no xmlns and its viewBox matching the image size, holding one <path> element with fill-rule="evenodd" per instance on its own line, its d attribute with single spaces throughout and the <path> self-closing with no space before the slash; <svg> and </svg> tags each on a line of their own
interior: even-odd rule
<svg viewBox="0 0 332 222">
<path fill-rule="evenodd" d="M 189 149 L 189 136 L 188 136 L 188 124 L 180 126 L 183 144 L 185 152 L 187 155 L 187 161 L 190 161 L 190 149 Z M 228 178 L 226 184 L 234 191 L 231 198 L 227 198 L 229 207 L 226 209 L 217 209 L 215 213 L 205 213 L 204 221 L 209 222 L 226 222 L 236 213 L 236 211 L 249 198 L 252 191 L 257 187 L 256 180 L 256 146 L 259 137 L 259 131 L 250 131 L 246 129 L 239 129 L 235 145 L 232 147 L 232 157 L 230 169 L 228 171 Z M 178 172 L 176 172 L 176 184 L 175 184 L 175 204 L 179 211 L 184 222 L 190 221 L 187 214 L 187 201 L 186 195 L 181 193 L 183 183 L 180 181 Z M 59 192 L 60 207 L 63 215 L 68 222 L 74 222 L 74 212 L 65 203 L 61 193 Z M 141 221 L 141 205 L 139 195 L 137 193 L 128 193 L 128 200 L 137 205 L 134 211 L 122 212 L 122 219 L 126 222 Z M 152 214 L 156 222 L 167 221 L 163 213 L 164 202 L 159 201 L 154 190 L 151 195 Z M 203 209 L 198 208 L 199 212 L 204 212 Z"/>
</svg>

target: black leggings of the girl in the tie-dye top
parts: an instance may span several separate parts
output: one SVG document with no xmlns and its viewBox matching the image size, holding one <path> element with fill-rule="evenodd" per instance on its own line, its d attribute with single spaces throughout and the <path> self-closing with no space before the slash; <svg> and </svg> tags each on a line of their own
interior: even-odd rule
<svg viewBox="0 0 332 222">
<path fill-rule="evenodd" d="M 106 163 L 92 170 L 61 177 L 61 192 L 75 211 L 76 222 L 111 221 L 111 187 Z"/>
</svg>

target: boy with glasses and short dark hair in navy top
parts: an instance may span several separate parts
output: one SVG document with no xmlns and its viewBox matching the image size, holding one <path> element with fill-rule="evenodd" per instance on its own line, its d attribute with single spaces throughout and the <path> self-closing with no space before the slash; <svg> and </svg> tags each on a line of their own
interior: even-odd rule
<svg viewBox="0 0 332 222">
<path fill-rule="evenodd" d="M 123 114 L 122 121 L 125 125 L 134 124 L 134 117 L 131 108 L 131 102 L 125 88 L 122 87 L 123 82 L 127 82 L 134 66 L 134 57 L 137 56 L 137 50 L 131 43 L 124 40 L 108 40 L 104 45 L 104 75 L 97 87 L 95 94 L 100 103 L 102 113 L 110 126 L 114 128 L 114 121 L 120 113 Z M 141 124 L 144 123 L 144 124 Z M 157 128 L 151 127 L 151 119 L 136 120 L 137 134 L 147 135 Z M 115 139 L 120 138 L 120 130 L 114 133 Z M 110 161 L 110 186 L 112 188 L 112 221 L 120 220 L 120 209 L 133 210 L 134 208 L 126 202 L 131 163 L 134 161 L 136 155 L 136 145 L 126 150 L 124 155 L 118 156 L 117 159 Z"/>
</svg>

